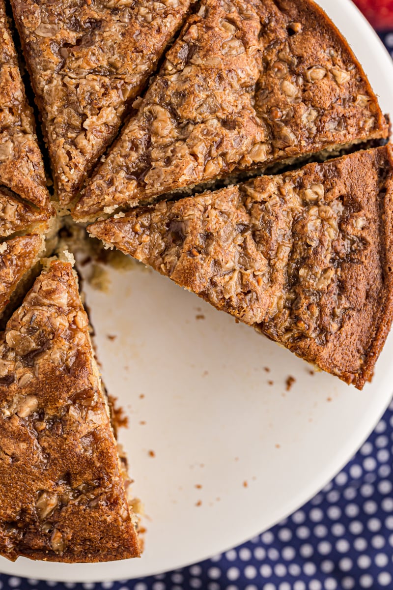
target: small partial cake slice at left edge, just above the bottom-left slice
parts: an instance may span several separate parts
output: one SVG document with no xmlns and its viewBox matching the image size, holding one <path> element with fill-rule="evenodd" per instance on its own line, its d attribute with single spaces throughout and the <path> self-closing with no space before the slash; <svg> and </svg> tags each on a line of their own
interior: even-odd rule
<svg viewBox="0 0 393 590">
<path fill-rule="evenodd" d="M 22 290 L 35 278 L 44 250 L 44 237 L 38 234 L 16 236 L 0 244 L 0 327 L 4 327 L 2 319 L 8 309 L 14 307 Z"/>
</svg>

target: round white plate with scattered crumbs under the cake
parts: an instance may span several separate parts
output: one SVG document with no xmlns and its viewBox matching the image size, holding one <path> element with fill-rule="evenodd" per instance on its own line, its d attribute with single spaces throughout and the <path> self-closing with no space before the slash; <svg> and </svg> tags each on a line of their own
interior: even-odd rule
<svg viewBox="0 0 393 590">
<path fill-rule="evenodd" d="M 393 65 L 377 35 L 349 0 L 320 4 L 389 112 Z M 391 398 L 393 335 L 372 385 L 358 392 L 329 375 L 310 375 L 286 350 L 140 265 L 110 270 L 110 279 L 107 294 L 85 290 L 105 383 L 129 414 L 121 441 L 134 491 L 146 506 L 146 550 L 141 559 L 115 564 L 0 559 L 3 573 L 70 582 L 130 579 L 239 545 L 318 492 Z M 296 383 L 286 392 L 289 375 Z"/>
</svg>

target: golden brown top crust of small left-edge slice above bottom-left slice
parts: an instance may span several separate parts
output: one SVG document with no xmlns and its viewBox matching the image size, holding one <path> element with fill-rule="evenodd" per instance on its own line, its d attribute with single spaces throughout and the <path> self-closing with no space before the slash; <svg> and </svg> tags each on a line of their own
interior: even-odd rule
<svg viewBox="0 0 393 590">
<path fill-rule="evenodd" d="M 42 241 L 41 235 L 32 234 L 0 244 L 0 317 L 19 281 L 38 261 Z"/>
</svg>

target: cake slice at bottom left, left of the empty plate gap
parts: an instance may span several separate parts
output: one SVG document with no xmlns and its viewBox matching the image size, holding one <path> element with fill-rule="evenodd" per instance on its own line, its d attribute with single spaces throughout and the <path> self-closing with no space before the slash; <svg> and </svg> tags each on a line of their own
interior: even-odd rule
<svg viewBox="0 0 393 590">
<path fill-rule="evenodd" d="M 0 553 L 139 555 L 72 265 L 52 261 L 0 340 Z"/>
</svg>

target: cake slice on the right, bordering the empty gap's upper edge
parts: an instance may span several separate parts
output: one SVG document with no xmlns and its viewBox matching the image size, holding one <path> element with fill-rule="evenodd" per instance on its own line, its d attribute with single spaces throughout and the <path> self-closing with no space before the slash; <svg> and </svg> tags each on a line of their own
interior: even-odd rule
<svg viewBox="0 0 393 590">
<path fill-rule="evenodd" d="M 392 178 L 389 145 L 89 230 L 361 389 L 393 316 Z"/>
</svg>

